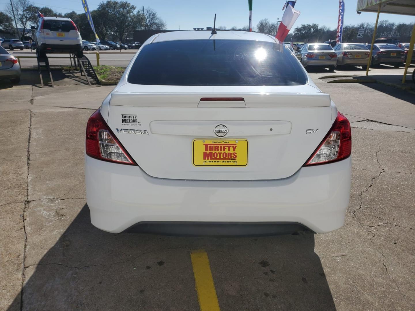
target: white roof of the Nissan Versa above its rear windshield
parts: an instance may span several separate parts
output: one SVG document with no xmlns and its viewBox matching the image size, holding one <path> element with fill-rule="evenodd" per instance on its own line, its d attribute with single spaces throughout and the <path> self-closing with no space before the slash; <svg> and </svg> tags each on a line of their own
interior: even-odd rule
<svg viewBox="0 0 415 311">
<path fill-rule="evenodd" d="M 217 34 L 211 34 L 211 30 L 183 30 L 177 32 L 163 32 L 156 36 L 152 42 L 172 40 L 195 40 L 195 39 L 233 39 L 233 40 L 258 40 L 278 42 L 273 36 L 260 34 L 258 32 L 242 32 L 232 30 L 217 30 Z"/>
</svg>

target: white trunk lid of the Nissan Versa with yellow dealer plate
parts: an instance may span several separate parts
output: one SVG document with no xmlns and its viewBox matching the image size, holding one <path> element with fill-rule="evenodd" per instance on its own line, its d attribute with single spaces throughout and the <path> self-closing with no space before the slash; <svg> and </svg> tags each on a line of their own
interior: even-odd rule
<svg viewBox="0 0 415 311">
<path fill-rule="evenodd" d="M 221 88 L 123 85 L 111 95 L 107 124 L 147 174 L 186 180 L 289 177 L 332 125 L 330 96 L 311 85 Z M 242 100 L 200 106 L 201 98 L 212 97 L 243 98 L 245 107 Z M 228 130 L 225 136 L 218 137 L 218 126 Z M 236 164 L 229 155 L 233 148 L 240 151 Z M 202 154 L 220 162 L 203 164 Z"/>
</svg>

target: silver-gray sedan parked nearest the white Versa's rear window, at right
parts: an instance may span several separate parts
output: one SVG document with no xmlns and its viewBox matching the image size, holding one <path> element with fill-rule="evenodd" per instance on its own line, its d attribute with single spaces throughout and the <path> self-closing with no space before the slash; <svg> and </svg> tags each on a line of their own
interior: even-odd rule
<svg viewBox="0 0 415 311">
<path fill-rule="evenodd" d="M 337 63 L 337 54 L 334 53 L 330 44 L 313 43 L 305 44 L 297 53 L 297 58 L 304 68 L 309 66 L 320 66 L 333 71 Z"/>
</svg>

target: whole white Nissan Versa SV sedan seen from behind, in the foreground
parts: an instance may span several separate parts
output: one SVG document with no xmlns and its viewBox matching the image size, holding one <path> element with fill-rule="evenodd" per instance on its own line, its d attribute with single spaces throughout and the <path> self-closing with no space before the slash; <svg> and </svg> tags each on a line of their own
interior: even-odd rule
<svg viewBox="0 0 415 311">
<path fill-rule="evenodd" d="M 91 222 L 113 233 L 324 233 L 349 204 L 349 121 L 266 34 L 151 36 L 85 149 Z"/>
</svg>

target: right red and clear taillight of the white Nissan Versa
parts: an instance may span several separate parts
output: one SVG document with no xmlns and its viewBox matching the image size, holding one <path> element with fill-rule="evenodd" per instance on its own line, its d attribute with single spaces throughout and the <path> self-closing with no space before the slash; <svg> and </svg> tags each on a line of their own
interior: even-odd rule
<svg viewBox="0 0 415 311">
<path fill-rule="evenodd" d="M 349 120 L 337 112 L 332 128 L 304 165 L 339 161 L 352 153 L 352 130 Z"/>
</svg>

